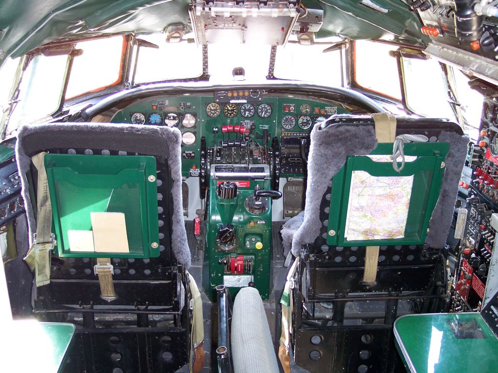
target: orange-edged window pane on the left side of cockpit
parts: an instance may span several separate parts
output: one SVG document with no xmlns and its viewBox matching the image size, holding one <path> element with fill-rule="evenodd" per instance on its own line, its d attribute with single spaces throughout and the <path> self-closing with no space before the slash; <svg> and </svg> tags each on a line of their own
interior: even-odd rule
<svg viewBox="0 0 498 373">
<path fill-rule="evenodd" d="M 77 43 L 76 49 L 83 50 L 83 54 L 74 58 L 66 98 L 118 83 L 123 44 L 123 36 Z"/>
</svg>

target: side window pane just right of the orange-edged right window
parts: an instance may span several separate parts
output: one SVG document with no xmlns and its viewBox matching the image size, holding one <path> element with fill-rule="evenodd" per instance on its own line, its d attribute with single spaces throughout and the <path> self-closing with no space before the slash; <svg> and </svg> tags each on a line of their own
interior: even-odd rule
<svg viewBox="0 0 498 373">
<path fill-rule="evenodd" d="M 401 58 L 406 104 L 416 114 L 455 121 L 446 76 L 436 60 Z"/>
</svg>

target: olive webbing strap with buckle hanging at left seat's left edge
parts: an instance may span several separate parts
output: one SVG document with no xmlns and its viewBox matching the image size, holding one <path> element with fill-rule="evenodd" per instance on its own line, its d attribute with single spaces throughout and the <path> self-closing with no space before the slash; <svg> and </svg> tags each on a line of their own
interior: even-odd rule
<svg viewBox="0 0 498 373">
<path fill-rule="evenodd" d="M 37 211 L 38 219 L 36 233 L 33 234 L 33 244 L 24 260 L 31 270 L 35 270 L 36 286 L 50 283 L 50 254 L 55 245 L 52 234 L 52 204 L 48 191 L 47 172 L 45 169 L 45 152 L 34 155 L 31 160 L 38 170 Z"/>
</svg>

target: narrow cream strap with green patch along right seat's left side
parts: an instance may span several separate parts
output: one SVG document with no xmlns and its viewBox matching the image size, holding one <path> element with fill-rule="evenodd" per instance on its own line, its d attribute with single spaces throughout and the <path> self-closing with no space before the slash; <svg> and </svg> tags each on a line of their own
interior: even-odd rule
<svg viewBox="0 0 498 373">
<path fill-rule="evenodd" d="M 294 289 L 294 274 L 297 270 L 299 257 L 296 257 L 294 263 L 287 273 L 280 304 L 282 305 L 282 333 L 280 335 L 280 346 L 278 348 L 278 359 L 282 364 L 284 373 L 290 373 L 290 335 L 292 334 L 292 293 Z"/>
</svg>

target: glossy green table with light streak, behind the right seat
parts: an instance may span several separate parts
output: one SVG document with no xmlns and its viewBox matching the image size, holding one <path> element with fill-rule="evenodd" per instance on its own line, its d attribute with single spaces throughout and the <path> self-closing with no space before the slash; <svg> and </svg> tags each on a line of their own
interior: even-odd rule
<svg viewBox="0 0 498 373">
<path fill-rule="evenodd" d="M 450 323 L 473 320 L 484 338 L 457 338 Z M 394 335 L 410 373 L 498 372 L 498 338 L 479 313 L 402 316 L 394 322 Z"/>
</svg>

